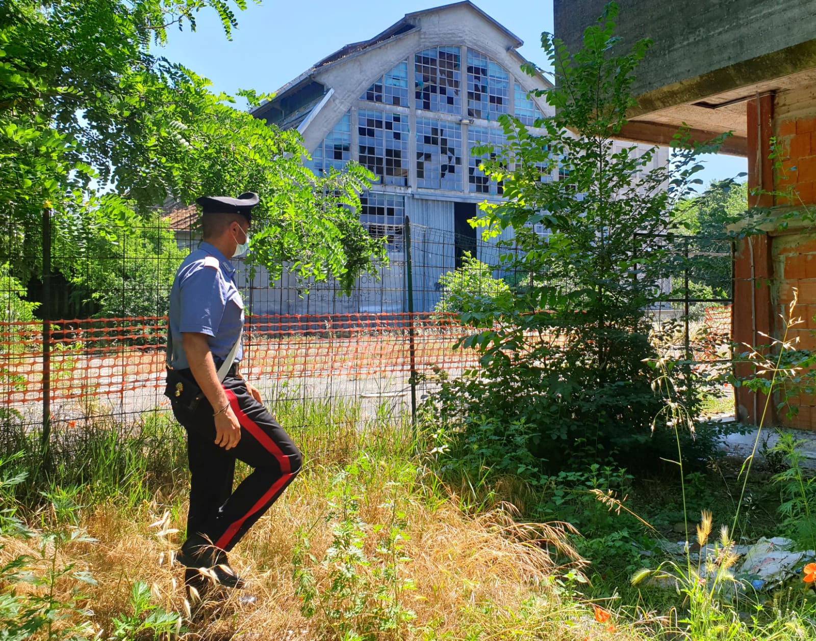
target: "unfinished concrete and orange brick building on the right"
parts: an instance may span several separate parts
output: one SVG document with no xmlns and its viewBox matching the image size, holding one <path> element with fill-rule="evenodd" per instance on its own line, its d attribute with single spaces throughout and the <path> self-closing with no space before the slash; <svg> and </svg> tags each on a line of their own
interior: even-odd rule
<svg viewBox="0 0 816 641">
<path fill-rule="evenodd" d="M 556 35 L 571 51 L 605 2 L 554 0 Z M 816 0 L 619 5 L 623 46 L 654 41 L 637 70 L 638 105 L 623 136 L 662 144 L 684 122 L 698 140 L 733 131 L 722 152 L 747 157 L 753 195 L 746 205 L 785 221 L 736 242 L 734 341 L 762 345 L 765 336 L 781 336 L 779 314 L 787 314 L 796 287 L 805 322 L 789 337 L 799 337 L 800 349 L 816 349 Z M 737 373 L 748 372 L 743 366 Z M 783 411 L 770 420 L 816 428 L 816 397 L 802 392 L 791 403 L 796 416 Z M 741 420 L 759 421 L 763 405 L 764 397 L 737 390 Z"/>
</svg>

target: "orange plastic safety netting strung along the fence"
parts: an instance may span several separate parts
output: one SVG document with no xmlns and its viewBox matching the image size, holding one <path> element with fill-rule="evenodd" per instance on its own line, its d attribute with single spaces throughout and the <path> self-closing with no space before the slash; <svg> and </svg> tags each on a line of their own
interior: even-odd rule
<svg viewBox="0 0 816 641">
<path fill-rule="evenodd" d="M 164 317 L 60 319 L 50 323 L 44 358 L 39 323 L 0 323 L 0 405 L 51 398 L 119 396 L 159 389 L 164 381 Z M 245 333 L 242 370 L 261 379 L 383 376 L 477 364 L 455 344 L 472 329 L 452 314 L 254 316 Z M 413 337 L 411 337 L 413 334 Z"/>
</svg>

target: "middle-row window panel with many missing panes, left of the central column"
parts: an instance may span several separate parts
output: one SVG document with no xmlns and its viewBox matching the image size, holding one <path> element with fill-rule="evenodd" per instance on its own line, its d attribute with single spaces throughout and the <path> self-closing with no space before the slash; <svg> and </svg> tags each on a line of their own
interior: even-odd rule
<svg viewBox="0 0 816 641">
<path fill-rule="evenodd" d="M 357 126 L 360 164 L 384 185 L 408 185 L 408 117 L 360 109 Z"/>
</svg>

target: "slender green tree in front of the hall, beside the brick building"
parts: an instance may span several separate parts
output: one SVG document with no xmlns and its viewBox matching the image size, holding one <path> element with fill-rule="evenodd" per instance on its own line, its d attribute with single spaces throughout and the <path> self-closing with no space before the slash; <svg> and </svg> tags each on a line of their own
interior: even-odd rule
<svg viewBox="0 0 816 641">
<path fill-rule="evenodd" d="M 693 178 L 702 169 L 695 151 L 711 147 L 695 149 L 679 134 L 669 167 L 655 167 L 656 149 L 614 151 L 634 105 L 636 65 L 650 46 L 643 40 L 631 51 L 614 48 L 616 15 L 610 3 L 574 54 L 544 33 L 556 83 L 539 95 L 555 115 L 534 123 L 541 135 L 504 115 L 507 145 L 477 149 L 494 154 L 484 166 L 503 180 L 505 200 L 483 203 L 472 224 L 488 237 L 512 229 L 504 235 L 513 236 L 513 251 L 501 265 L 530 278 L 512 292 L 501 323 L 490 313 L 463 314 L 484 323 L 463 345 L 481 349 L 485 369 L 446 381 L 437 406 L 449 419 L 469 417 L 460 432 L 466 439 L 480 421 L 501 421 L 508 434 L 518 431 L 510 425 L 524 425 L 532 430 L 526 447 L 556 466 L 609 456 L 642 465 L 645 450 L 671 452 L 674 442 L 667 430 L 650 430 L 661 406 L 644 363 L 654 355 L 645 309 L 666 297 L 659 285 L 671 267 L 654 234 L 674 226 L 679 204 L 701 182 Z M 569 180 L 548 180 L 556 171 Z M 513 443 L 507 447 L 511 452 Z"/>
</svg>

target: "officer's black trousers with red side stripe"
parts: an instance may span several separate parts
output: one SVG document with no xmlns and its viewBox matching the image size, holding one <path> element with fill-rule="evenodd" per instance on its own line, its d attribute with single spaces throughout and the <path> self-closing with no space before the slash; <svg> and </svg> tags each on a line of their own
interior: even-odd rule
<svg viewBox="0 0 816 641">
<path fill-rule="evenodd" d="M 187 430 L 187 536 L 205 536 L 215 547 L 229 551 L 295 479 L 303 458 L 273 416 L 246 391 L 242 379 L 227 376 L 223 385 L 241 424 L 241 440 L 230 450 L 215 445 L 215 419 L 206 398 L 196 412 L 172 406 L 176 420 Z M 253 471 L 233 492 L 236 460 Z"/>
</svg>

